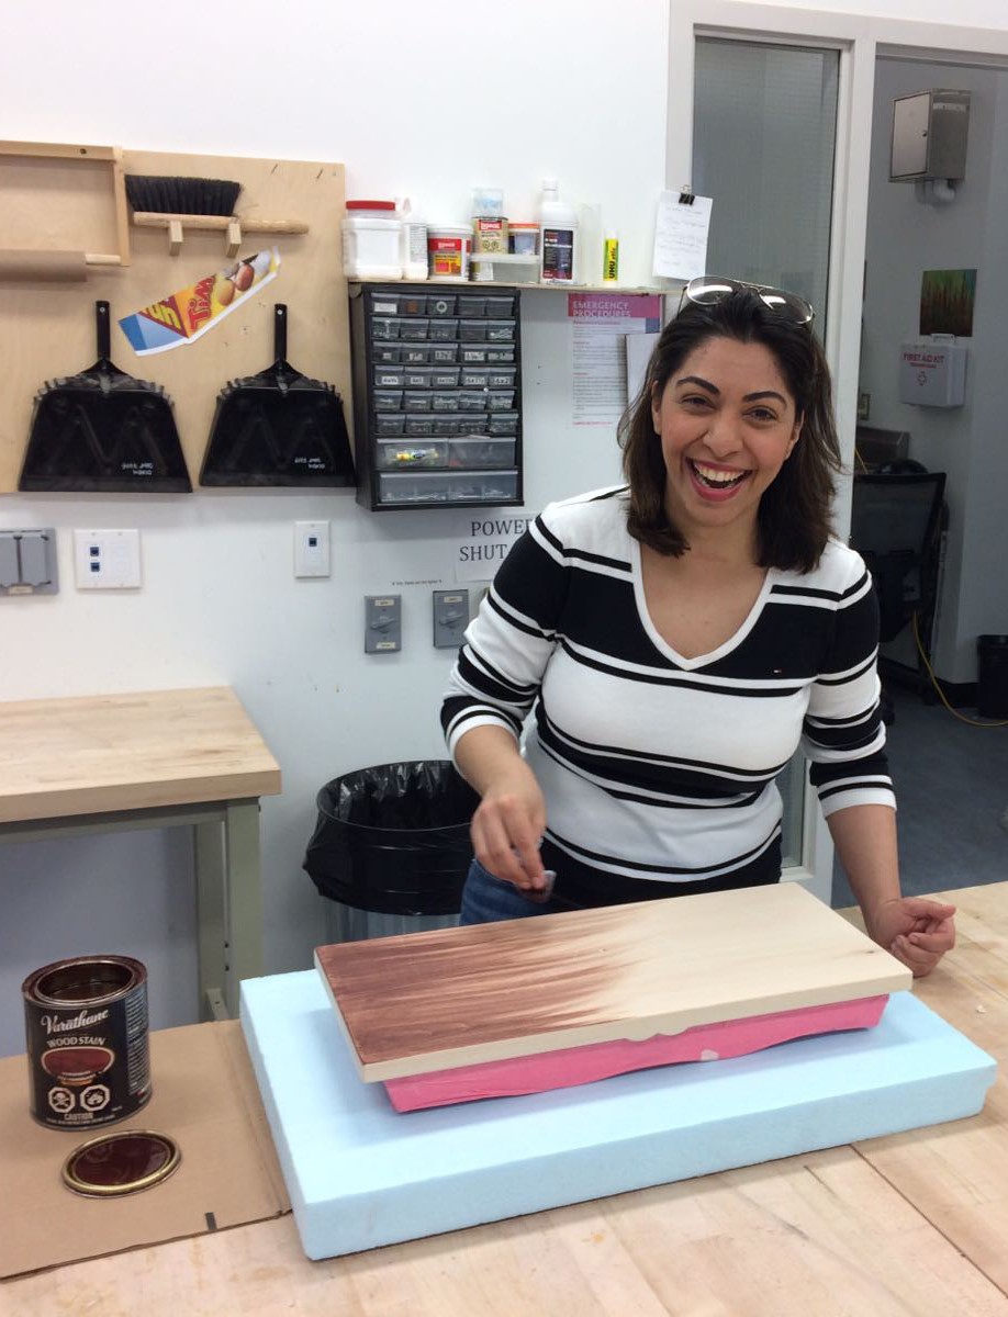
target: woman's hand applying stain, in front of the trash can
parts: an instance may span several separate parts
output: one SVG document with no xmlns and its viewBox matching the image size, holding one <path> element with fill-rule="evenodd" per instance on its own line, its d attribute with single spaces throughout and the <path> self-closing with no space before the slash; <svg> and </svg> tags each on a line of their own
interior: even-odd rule
<svg viewBox="0 0 1008 1317">
<path fill-rule="evenodd" d="M 515 755 L 498 768 L 473 814 L 470 836 L 476 859 L 494 877 L 524 892 L 543 892 L 546 871 L 539 843 L 546 831 L 546 802 L 526 761 Z"/>
</svg>

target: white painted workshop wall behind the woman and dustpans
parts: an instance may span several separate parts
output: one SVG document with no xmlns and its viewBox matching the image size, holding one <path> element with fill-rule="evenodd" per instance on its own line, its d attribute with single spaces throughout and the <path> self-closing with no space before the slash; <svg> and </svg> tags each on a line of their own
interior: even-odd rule
<svg viewBox="0 0 1008 1317">
<path fill-rule="evenodd" d="M 875 0 L 871 12 L 904 17 L 905 3 Z M 914 16 L 941 21 L 947 5 L 917 0 Z M 961 0 L 957 16 L 1008 25 L 1001 0 Z M 531 213 L 539 179 L 555 173 L 568 199 L 598 204 L 619 227 L 623 277 L 644 282 L 665 182 L 667 54 L 665 0 L 509 0 L 494 21 L 469 0 L 434 11 L 175 0 L 170 12 L 107 0 L 98 18 L 55 0 L 7 14 L 4 136 L 343 161 L 348 195 L 410 192 L 439 220 L 465 216 L 477 183 L 503 187 L 515 217 Z M 607 436 L 586 443 L 571 425 L 563 299 L 527 303 L 536 510 L 614 478 L 615 453 Z M 1 698 L 229 684 L 279 759 L 285 793 L 262 810 L 271 972 L 308 964 L 320 928 L 300 871 L 318 786 L 364 764 L 441 753 L 448 660 L 430 645 L 430 582 L 452 583 L 459 515 L 370 515 L 343 494 L 298 491 L 0 498 L 0 525 L 57 527 L 63 582 L 53 599 L 0 599 Z M 295 582 L 291 527 L 315 518 L 332 522 L 333 576 Z M 96 524 L 140 528 L 136 597 L 74 591 L 69 531 Z M 361 597 L 397 581 L 424 582 L 397 586 L 405 649 L 365 658 Z M 24 975 L 75 951 L 140 951 L 155 1025 L 192 1018 L 179 932 L 191 928 L 191 869 L 178 836 L 0 846 L 0 1052 L 22 1046 Z M 134 873 L 145 890 L 129 902 L 121 882 Z"/>
</svg>

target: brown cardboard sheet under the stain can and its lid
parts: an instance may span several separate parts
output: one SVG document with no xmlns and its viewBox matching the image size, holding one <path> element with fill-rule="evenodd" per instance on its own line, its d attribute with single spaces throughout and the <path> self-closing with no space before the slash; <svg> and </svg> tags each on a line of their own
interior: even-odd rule
<svg viewBox="0 0 1008 1317">
<path fill-rule="evenodd" d="M 121 1198 L 63 1187 L 70 1152 L 99 1130 L 50 1130 L 29 1114 L 28 1063 L 0 1060 L 0 1276 L 38 1271 L 290 1210 L 237 1021 L 150 1035 L 153 1097 L 105 1133 L 150 1129 L 182 1151 L 162 1184 Z"/>
</svg>

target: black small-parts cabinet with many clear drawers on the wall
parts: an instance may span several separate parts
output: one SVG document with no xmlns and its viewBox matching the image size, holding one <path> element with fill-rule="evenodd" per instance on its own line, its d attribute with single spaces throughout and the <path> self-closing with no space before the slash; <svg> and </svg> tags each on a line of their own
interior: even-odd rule
<svg viewBox="0 0 1008 1317">
<path fill-rule="evenodd" d="M 352 283 L 349 295 L 358 503 L 520 504 L 519 290 Z"/>
</svg>

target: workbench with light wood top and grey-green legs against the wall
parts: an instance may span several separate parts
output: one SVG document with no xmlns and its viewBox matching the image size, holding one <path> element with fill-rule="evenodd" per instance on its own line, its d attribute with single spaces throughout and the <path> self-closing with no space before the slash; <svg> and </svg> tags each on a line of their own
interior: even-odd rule
<svg viewBox="0 0 1008 1317">
<path fill-rule="evenodd" d="M 258 797 L 279 789 L 227 686 L 0 702 L 0 842 L 194 828 L 203 1018 L 262 973 Z"/>
</svg>

